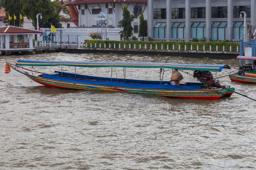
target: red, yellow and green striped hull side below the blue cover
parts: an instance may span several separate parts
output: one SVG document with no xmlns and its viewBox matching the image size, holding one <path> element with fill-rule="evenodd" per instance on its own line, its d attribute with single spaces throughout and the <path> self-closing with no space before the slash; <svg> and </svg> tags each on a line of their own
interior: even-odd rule
<svg viewBox="0 0 256 170">
<path fill-rule="evenodd" d="M 29 76 L 28 76 L 29 77 Z M 86 83 L 73 83 L 67 81 L 56 81 L 45 78 L 29 77 L 30 79 L 38 82 L 42 85 L 46 85 L 52 88 L 64 88 L 73 90 L 88 90 L 88 91 L 115 91 L 115 92 L 129 92 L 129 93 L 140 93 L 140 94 L 154 94 L 166 97 L 184 98 L 184 99 L 208 99 L 217 100 L 222 97 L 229 97 L 233 92 L 226 89 L 220 90 L 159 90 L 159 89 L 140 89 L 140 88 L 126 88 L 116 86 L 105 86 L 105 85 L 93 85 Z M 231 90 L 234 90 L 233 88 Z"/>
</svg>

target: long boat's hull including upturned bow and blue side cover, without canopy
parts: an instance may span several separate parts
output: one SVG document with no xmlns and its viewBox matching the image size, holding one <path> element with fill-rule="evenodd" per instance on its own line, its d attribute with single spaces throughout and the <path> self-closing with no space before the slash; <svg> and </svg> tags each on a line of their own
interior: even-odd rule
<svg viewBox="0 0 256 170">
<path fill-rule="evenodd" d="M 35 82 L 41 85 L 46 85 L 52 88 L 64 88 L 73 90 L 87 91 L 113 91 L 113 92 L 128 92 L 139 94 L 154 94 L 166 97 L 184 98 L 184 99 L 207 99 L 217 100 L 223 97 L 229 97 L 233 94 L 225 88 L 218 89 L 201 89 L 200 86 L 173 86 L 159 84 L 136 84 L 125 82 L 112 81 L 93 81 L 81 80 L 75 77 L 52 76 L 49 74 L 35 73 L 15 65 L 10 65 L 16 71 L 26 75 Z M 226 86 L 226 88 L 230 88 Z M 234 88 L 230 88 L 234 91 Z"/>
</svg>

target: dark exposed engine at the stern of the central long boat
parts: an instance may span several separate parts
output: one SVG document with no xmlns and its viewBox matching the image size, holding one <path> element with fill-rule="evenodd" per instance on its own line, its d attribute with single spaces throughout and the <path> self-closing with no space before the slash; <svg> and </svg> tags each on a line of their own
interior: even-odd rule
<svg viewBox="0 0 256 170">
<path fill-rule="evenodd" d="M 207 87 L 221 87 L 221 84 L 213 79 L 210 71 L 194 71 L 193 77 L 197 78 L 204 85 L 207 85 Z"/>
</svg>

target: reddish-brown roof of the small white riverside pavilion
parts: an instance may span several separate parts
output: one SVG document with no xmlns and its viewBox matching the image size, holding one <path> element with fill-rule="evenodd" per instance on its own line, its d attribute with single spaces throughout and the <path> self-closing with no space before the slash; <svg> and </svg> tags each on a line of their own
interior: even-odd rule
<svg viewBox="0 0 256 170">
<path fill-rule="evenodd" d="M 0 34 L 42 34 L 42 31 L 15 26 L 4 26 L 0 27 Z"/>
</svg>

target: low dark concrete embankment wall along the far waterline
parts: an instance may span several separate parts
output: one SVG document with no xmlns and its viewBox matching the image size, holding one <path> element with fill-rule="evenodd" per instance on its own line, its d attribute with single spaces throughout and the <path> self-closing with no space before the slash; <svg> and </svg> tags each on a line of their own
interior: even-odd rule
<svg viewBox="0 0 256 170">
<path fill-rule="evenodd" d="M 239 51 L 201 51 L 201 50 L 171 50 L 171 49 L 134 49 L 134 48 L 93 48 L 93 47 L 74 47 L 74 46 L 46 46 L 36 47 L 35 49 L 12 49 L 1 51 L 2 55 L 11 56 L 19 53 L 25 55 L 67 52 L 67 53 L 114 53 L 114 54 L 145 54 L 145 55 L 163 55 L 175 57 L 193 57 L 193 58 L 216 58 L 216 59 L 235 59 Z"/>
</svg>

